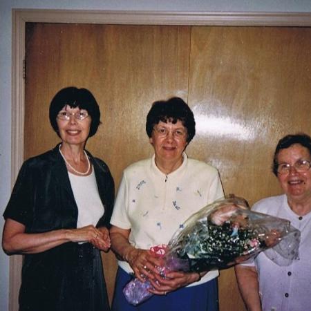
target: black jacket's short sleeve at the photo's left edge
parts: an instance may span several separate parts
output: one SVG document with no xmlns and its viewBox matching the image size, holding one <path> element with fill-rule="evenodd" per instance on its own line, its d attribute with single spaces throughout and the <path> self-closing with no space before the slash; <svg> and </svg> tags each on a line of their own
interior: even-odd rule
<svg viewBox="0 0 311 311">
<path fill-rule="evenodd" d="M 3 213 L 5 219 L 11 218 L 26 227 L 30 225 L 33 219 L 32 176 L 33 173 L 28 162 L 24 162 L 17 176 L 6 210 Z"/>
</svg>

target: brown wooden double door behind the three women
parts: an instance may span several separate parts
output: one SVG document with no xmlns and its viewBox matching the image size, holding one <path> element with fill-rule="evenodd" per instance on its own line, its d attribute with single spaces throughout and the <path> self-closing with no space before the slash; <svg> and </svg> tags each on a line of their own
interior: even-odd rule
<svg viewBox="0 0 311 311">
<path fill-rule="evenodd" d="M 253 204 L 281 193 L 270 172 L 287 133 L 311 133 L 310 28 L 104 26 L 28 23 L 25 158 L 53 147 L 48 106 L 64 86 L 90 89 L 102 125 L 87 149 L 116 186 L 124 167 L 151 156 L 144 131 L 151 103 L 172 95 L 194 111 L 192 158 L 220 171 L 227 194 Z M 112 295 L 116 262 L 104 254 Z M 220 310 L 245 310 L 233 269 L 219 278 Z"/>
</svg>

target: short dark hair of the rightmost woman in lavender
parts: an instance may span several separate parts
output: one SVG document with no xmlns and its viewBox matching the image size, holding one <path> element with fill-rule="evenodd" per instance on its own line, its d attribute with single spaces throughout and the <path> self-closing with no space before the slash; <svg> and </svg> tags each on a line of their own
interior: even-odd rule
<svg viewBox="0 0 311 311">
<path fill-rule="evenodd" d="M 279 163 L 277 157 L 279 155 L 279 152 L 281 151 L 281 149 L 287 149 L 293 144 L 301 144 L 301 146 L 308 149 L 311 156 L 311 138 L 309 135 L 305 133 L 296 133 L 284 136 L 283 138 L 281 138 L 281 140 L 279 140 L 278 144 L 276 145 L 276 149 L 274 151 L 272 171 L 275 176 L 278 175 L 277 169 Z"/>
</svg>

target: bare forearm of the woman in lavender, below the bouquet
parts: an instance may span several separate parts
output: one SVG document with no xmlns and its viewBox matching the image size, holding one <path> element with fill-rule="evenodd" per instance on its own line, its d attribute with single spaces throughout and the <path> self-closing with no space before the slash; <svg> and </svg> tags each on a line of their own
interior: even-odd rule
<svg viewBox="0 0 311 311">
<path fill-rule="evenodd" d="M 259 297 L 258 274 L 256 267 L 236 265 L 236 281 L 238 289 L 248 311 L 261 311 L 261 299 Z"/>
</svg>

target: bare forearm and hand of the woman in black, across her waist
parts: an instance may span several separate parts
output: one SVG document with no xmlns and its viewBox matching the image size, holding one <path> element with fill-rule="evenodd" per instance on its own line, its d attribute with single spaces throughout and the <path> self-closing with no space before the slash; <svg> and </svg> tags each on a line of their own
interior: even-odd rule
<svg viewBox="0 0 311 311">
<path fill-rule="evenodd" d="M 67 242 L 88 241 L 93 245 L 102 245 L 98 247 L 101 249 L 107 245 L 104 233 L 92 225 L 35 234 L 25 233 L 25 228 L 22 223 L 11 218 L 6 219 L 2 236 L 2 247 L 6 254 L 36 254 Z"/>
</svg>

